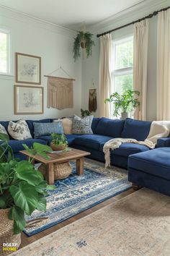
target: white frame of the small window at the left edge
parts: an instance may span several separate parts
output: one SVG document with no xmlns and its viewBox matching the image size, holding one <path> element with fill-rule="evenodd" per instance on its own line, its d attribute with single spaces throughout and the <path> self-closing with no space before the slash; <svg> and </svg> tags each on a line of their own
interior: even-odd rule
<svg viewBox="0 0 170 256">
<path fill-rule="evenodd" d="M 0 70 L 0 75 L 12 75 L 11 30 L 9 30 L 8 28 L 0 27 L 0 33 L 6 34 L 6 46 L 7 46 L 6 72 L 1 72 Z"/>
</svg>

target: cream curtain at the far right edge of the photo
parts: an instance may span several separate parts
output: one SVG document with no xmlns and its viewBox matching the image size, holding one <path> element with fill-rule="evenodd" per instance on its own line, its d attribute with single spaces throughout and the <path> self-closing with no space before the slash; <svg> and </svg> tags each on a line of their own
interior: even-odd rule
<svg viewBox="0 0 170 256">
<path fill-rule="evenodd" d="M 170 120 L 170 9 L 158 13 L 157 120 Z"/>
</svg>

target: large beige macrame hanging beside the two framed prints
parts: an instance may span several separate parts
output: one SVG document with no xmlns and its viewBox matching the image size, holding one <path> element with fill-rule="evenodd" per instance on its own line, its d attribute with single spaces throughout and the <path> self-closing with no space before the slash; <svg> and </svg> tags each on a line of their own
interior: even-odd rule
<svg viewBox="0 0 170 256">
<path fill-rule="evenodd" d="M 58 68 L 45 77 L 48 77 L 48 108 L 73 108 L 73 78 L 53 77 L 51 74 L 62 69 L 65 74 L 70 75 L 62 68 Z"/>
</svg>

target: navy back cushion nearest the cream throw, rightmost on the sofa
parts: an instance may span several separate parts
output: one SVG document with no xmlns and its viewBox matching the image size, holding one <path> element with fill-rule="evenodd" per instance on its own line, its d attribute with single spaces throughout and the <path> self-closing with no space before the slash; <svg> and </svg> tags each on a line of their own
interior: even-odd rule
<svg viewBox="0 0 170 256">
<path fill-rule="evenodd" d="M 146 140 L 150 131 L 151 121 L 140 121 L 127 118 L 121 137 L 135 140 Z"/>
</svg>

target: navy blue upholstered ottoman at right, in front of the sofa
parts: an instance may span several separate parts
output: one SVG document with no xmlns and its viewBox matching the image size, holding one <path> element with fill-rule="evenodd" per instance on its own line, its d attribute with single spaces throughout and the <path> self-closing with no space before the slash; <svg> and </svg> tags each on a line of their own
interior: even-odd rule
<svg viewBox="0 0 170 256">
<path fill-rule="evenodd" d="M 156 148 L 130 155 L 128 180 L 170 196 L 170 148 Z"/>
</svg>

